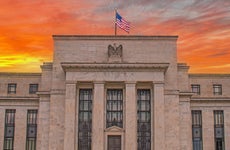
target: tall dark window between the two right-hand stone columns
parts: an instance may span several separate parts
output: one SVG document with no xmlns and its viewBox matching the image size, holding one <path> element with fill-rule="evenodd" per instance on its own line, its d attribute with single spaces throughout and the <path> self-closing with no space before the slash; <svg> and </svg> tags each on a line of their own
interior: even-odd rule
<svg viewBox="0 0 230 150">
<path fill-rule="evenodd" d="M 138 150 L 151 149 L 151 92 L 137 90 L 137 143 Z"/>
</svg>

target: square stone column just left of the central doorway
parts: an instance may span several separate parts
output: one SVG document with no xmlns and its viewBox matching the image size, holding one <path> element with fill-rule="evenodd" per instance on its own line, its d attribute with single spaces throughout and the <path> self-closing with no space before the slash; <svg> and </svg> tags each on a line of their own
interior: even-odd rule
<svg viewBox="0 0 230 150">
<path fill-rule="evenodd" d="M 92 110 L 92 150 L 104 149 L 104 92 L 104 82 L 95 82 Z"/>
</svg>

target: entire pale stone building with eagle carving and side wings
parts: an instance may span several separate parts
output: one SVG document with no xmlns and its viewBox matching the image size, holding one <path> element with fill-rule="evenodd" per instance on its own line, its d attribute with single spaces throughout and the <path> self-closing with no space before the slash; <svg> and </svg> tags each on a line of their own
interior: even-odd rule
<svg viewBox="0 0 230 150">
<path fill-rule="evenodd" d="M 230 149 L 230 74 L 189 74 L 177 38 L 54 35 L 41 73 L 0 73 L 0 148 Z"/>
</svg>

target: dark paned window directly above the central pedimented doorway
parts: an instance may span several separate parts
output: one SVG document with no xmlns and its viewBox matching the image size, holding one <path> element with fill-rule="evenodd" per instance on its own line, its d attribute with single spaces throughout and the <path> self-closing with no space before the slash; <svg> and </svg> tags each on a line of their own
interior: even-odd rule
<svg viewBox="0 0 230 150">
<path fill-rule="evenodd" d="M 123 127 L 123 90 L 107 90 L 106 127 Z"/>
</svg>

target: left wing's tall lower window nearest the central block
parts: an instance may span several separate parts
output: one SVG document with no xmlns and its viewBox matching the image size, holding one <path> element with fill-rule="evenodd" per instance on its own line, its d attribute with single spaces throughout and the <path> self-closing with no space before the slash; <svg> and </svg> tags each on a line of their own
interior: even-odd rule
<svg viewBox="0 0 230 150">
<path fill-rule="evenodd" d="M 27 111 L 26 150 L 36 150 L 37 110 Z"/>
</svg>

